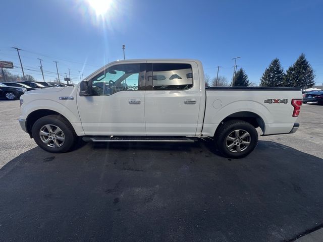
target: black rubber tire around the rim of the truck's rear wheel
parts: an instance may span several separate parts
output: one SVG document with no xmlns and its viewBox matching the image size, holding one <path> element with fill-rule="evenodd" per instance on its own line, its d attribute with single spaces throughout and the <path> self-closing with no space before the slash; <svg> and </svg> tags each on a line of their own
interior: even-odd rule
<svg viewBox="0 0 323 242">
<path fill-rule="evenodd" d="M 245 130 L 250 134 L 250 145 L 247 147 L 247 149 L 239 153 L 229 151 L 226 146 L 226 138 L 234 130 Z M 222 134 L 220 135 L 220 137 L 218 137 L 218 139 L 219 139 L 218 148 L 225 156 L 230 158 L 243 158 L 248 154 L 250 154 L 254 150 L 254 148 L 256 148 L 258 143 L 258 133 L 256 129 L 249 123 L 246 123 L 246 122 L 238 123 L 238 124 L 233 123 L 229 125 L 224 130 L 224 132 L 222 132 Z"/>
</svg>

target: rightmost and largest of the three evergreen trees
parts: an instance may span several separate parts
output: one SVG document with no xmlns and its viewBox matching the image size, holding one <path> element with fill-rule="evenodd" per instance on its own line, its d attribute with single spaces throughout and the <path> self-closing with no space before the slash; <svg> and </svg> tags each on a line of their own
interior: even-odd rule
<svg viewBox="0 0 323 242">
<path fill-rule="evenodd" d="M 314 78 L 314 71 L 305 58 L 305 54 L 302 53 L 296 62 L 288 68 L 284 86 L 306 89 L 315 85 Z"/>
</svg>

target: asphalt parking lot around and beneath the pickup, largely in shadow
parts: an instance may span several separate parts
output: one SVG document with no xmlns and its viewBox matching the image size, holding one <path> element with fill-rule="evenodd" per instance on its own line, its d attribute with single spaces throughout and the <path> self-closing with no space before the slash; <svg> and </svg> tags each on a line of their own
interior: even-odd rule
<svg viewBox="0 0 323 242">
<path fill-rule="evenodd" d="M 0 100 L 0 241 L 293 241 L 323 225 L 323 106 L 244 159 L 210 143 L 38 148 Z"/>
</svg>

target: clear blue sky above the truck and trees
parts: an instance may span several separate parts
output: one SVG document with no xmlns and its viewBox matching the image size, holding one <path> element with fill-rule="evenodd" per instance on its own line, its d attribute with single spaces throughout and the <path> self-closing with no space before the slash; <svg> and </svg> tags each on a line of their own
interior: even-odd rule
<svg viewBox="0 0 323 242">
<path fill-rule="evenodd" d="M 58 61 L 60 74 L 70 68 L 76 81 L 79 71 L 85 77 L 122 59 L 125 44 L 126 58 L 196 58 L 211 77 L 222 66 L 228 80 L 241 56 L 238 68 L 258 83 L 272 59 L 286 70 L 304 52 L 323 82 L 323 1 L 108 0 L 103 18 L 88 1 L 3 1 L 0 59 L 19 67 L 17 46 L 26 74 L 41 80 L 42 58 L 46 80 Z"/>
</svg>

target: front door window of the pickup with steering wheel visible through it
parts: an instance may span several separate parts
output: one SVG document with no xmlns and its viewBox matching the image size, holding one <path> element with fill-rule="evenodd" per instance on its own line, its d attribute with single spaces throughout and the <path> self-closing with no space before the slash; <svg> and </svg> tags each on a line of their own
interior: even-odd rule
<svg viewBox="0 0 323 242">
<path fill-rule="evenodd" d="M 111 95 L 120 91 L 138 90 L 140 64 L 112 66 L 92 79 L 93 95 Z"/>
</svg>

